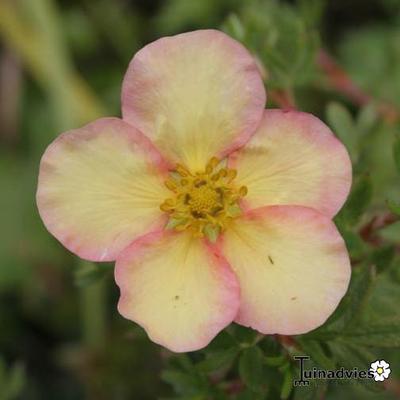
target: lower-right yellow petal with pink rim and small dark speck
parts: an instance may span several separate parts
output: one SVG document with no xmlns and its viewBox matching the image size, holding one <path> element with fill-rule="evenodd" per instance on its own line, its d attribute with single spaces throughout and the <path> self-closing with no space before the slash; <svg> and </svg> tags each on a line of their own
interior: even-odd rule
<svg viewBox="0 0 400 400">
<path fill-rule="evenodd" d="M 233 222 L 221 246 L 240 284 L 237 321 L 265 334 L 317 328 L 349 284 L 343 239 L 327 217 L 309 208 L 254 210 Z"/>
</svg>

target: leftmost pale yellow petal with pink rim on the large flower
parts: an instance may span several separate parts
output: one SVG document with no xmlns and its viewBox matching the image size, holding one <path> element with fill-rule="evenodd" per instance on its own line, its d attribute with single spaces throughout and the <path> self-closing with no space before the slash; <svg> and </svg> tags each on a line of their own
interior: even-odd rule
<svg viewBox="0 0 400 400">
<path fill-rule="evenodd" d="M 82 258 L 111 261 L 163 220 L 169 195 L 156 151 L 117 118 L 60 135 L 43 155 L 37 204 L 47 229 Z"/>
</svg>

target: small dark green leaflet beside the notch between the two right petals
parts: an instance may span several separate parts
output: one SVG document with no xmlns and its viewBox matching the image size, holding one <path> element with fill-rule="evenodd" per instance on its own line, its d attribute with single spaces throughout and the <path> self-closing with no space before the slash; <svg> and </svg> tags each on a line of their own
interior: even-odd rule
<svg viewBox="0 0 400 400">
<path fill-rule="evenodd" d="M 372 183 L 369 176 L 364 175 L 353 185 L 353 189 L 342 211 L 338 222 L 344 226 L 356 225 L 372 200 Z"/>
</svg>

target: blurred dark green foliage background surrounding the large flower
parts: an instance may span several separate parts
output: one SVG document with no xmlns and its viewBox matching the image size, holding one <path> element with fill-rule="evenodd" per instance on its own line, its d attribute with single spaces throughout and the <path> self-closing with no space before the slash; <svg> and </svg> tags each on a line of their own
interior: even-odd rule
<svg viewBox="0 0 400 400">
<path fill-rule="evenodd" d="M 223 29 L 254 52 L 268 107 L 296 105 L 345 143 L 354 186 L 337 224 L 354 274 L 326 327 L 298 338 L 231 326 L 173 355 L 116 310 L 112 265 L 44 229 L 41 154 L 62 131 L 120 115 L 133 54 Z M 400 398 L 398 0 L 0 0 L 0 400 Z M 381 385 L 293 389 L 296 353 L 322 368 L 391 364 Z"/>
</svg>

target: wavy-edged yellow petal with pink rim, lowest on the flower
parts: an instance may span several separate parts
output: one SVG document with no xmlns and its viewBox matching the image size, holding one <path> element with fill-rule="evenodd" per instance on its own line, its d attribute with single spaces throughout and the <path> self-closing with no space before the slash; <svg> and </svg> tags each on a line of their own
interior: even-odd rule
<svg viewBox="0 0 400 400">
<path fill-rule="evenodd" d="M 239 307 L 239 287 L 227 262 L 190 233 L 154 233 L 117 259 L 119 312 L 172 351 L 206 346 Z"/>
</svg>

